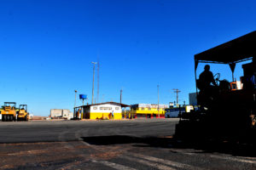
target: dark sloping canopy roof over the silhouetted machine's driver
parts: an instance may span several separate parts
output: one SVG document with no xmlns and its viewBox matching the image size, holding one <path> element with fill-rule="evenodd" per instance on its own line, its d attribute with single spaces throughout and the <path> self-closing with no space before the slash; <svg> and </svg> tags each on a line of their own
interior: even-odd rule
<svg viewBox="0 0 256 170">
<path fill-rule="evenodd" d="M 223 64 L 238 63 L 256 57 L 255 45 L 256 31 L 253 31 L 200 54 L 195 54 L 195 61 Z"/>
</svg>

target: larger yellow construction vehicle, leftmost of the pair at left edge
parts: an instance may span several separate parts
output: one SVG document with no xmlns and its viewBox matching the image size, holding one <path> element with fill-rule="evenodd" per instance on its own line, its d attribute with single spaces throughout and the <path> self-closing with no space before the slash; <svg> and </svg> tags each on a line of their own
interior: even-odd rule
<svg viewBox="0 0 256 170">
<path fill-rule="evenodd" d="M 10 122 L 16 120 L 16 103 L 4 102 L 3 110 L 1 111 L 2 121 Z"/>
</svg>

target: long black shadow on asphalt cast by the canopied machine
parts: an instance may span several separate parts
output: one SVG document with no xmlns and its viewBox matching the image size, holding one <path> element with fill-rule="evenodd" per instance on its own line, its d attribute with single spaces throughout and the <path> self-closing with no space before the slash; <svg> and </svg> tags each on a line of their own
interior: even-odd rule
<svg viewBox="0 0 256 170">
<path fill-rule="evenodd" d="M 195 149 L 198 153 L 224 153 L 233 156 L 256 157 L 255 144 L 239 144 L 226 139 L 175 139 L 172 137 L 134 137 L 127 135 L 83 137 L 84 142 L 94 145 L 132 144 L 134 147 L 161 147 Z M 197 152 L 197 151 L 195 151 Z"/>
</svg>

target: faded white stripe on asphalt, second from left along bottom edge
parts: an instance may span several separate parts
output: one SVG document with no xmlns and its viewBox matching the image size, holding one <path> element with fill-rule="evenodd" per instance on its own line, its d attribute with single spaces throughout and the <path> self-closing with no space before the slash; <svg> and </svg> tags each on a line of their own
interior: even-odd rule
<svg viewBox="0 0 256 170">
<path fill-rule="evenodd" d="M 125 158 L 129 161 L 136 161 L 136 162 L 142 163 L 144 165 L 147 165 L 149 167 L 154 167 L 154 168 L 157 168 L 157 169 L 160 169 L 160 170 L 175 170 L 175 168 L 167 167 L 165 165 L 162 165 L 161 163 L 145 161 L 145 160 L 133 158 L 133 157 L 130 157 L 130 156 L 120 156 L 120 157 Z"/>
</svg>

